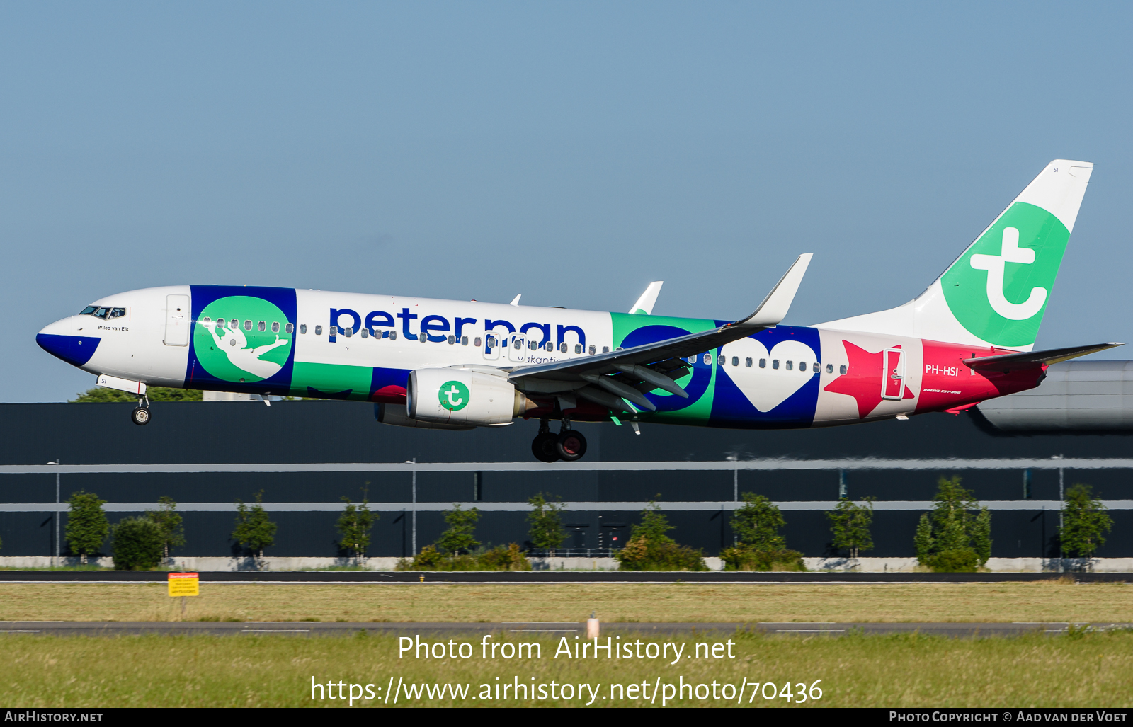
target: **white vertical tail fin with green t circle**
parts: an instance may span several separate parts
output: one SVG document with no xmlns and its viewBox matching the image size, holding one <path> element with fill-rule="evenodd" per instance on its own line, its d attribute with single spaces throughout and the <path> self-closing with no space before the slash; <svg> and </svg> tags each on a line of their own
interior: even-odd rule
<svg viewBox="0 0 1133 727">
<path fill-rule="evenodd" d="M 1031 350 L 1092 171 L 1050 162 L 915 300 L 823 327 Z"/>
</svg>

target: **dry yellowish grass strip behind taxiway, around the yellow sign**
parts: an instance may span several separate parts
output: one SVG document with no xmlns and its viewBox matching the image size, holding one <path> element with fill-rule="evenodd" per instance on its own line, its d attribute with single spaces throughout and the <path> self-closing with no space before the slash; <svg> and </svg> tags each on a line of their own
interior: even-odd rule
<svg viewBox="0 0 1133 727">
<path fill-rule="evenodd" d="M 1133 622 L 1124 583 L 225 584 L 187 621 Z M 164 583 L 0 583 L 2 621 L 179 621 Z"/>
</svg>

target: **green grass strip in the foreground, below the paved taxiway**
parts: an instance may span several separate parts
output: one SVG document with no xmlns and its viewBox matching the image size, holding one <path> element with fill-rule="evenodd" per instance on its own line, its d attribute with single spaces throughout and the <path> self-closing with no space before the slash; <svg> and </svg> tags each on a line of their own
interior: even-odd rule
<svg viewBox="0 0 1133 727">
<path fill-rule="evenodd" d="M 1128 707 L 1133 695 L 1133 634 L 1094 633 L 1080 638 L 1028 635 L 1014 639 L 949 640 L 918 635 L 785 638 L 739 634 L 734 659 L 662 660 L 555 659 L 555 642 L 545 640 L 542 659 L 398 659 L 397 640 L 289 636 L 127 636 L 40 638 L 9 635 L 0 641 L 0 702 L 19 707 L 343 707 L 340 700 L 312 700 L 314 677 L 344 685 L 374 684 L 384 699 L 391 683 L 467 684 L 463 699 L 407 698 L 398 705 L 662 705 L 678 687 L 704 684 L 697 699 L 676 705 L 735 705 L 744 679 L 746 707 Z M 477 640 L 478 641 L 478 640 Z M 692 650 L 692 647 L 688 647 Z M 496 681 L 500 677 L 500 681 Z M 531 677 L 535 677 L 534 682 Z M 594 690 L 574 699 L 485 701 L 482 685 L 586 683 Z M 821 699 L 787 703 L 774 695 L 790 682 L 809 687 L 816 679 Z M 611 684 L 646 682 L 641 694 L 612 691 Z M 721 686 L 710 696 L 712 682 Z M 776 687 L 766 691 L 765 683 Z M 730 699 L 724 699 L 729 695 Z M 349 686 L 344 694 L 349 694 Z M 325 694 L 325 693 L 324 693 Z M 425 693 L 427 694 L 427 693 Z M 544 694 L 550 698 L 545 686 Z M 611 694 L 614 700 L 611 700 Z M 471 700 L 472 695 L 480 695 Z M 318 696 L 316 692 L 316 696 Z M 621 699 L 617 699 L 621 698 Z M 365 707 L 382 703 L 356 701 Z M 394 699 L 390 699 L 393 705 Z"/>
</svg>

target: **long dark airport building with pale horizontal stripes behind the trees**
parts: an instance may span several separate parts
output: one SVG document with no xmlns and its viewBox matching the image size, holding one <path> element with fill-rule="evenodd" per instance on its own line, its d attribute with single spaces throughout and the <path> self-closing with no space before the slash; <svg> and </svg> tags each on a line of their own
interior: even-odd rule
<svg viewBox="0 0 1133 727">
<path fill-rule="evenodd" d="M 951 476 L 993 511 L 994 558 L 1057 557 L 1059 493 L 1076 482 L 1114 519 L 1097 555 L 1133 557 L 1127 373 L 1133 362 L 1063 364 L 1038 390 L 959 416 L 825 429 L 642 425 L 636 435 L 582 424 L 586 459 L 553 464 L 531 459 L 534 420 L 437 431 L 380 424 L 366 403 L 206 401 L 154 403 L 153 424 L 136 427 L 128 404 L 0 404 L 0 562 L 54 556 L 66 524 L 57 507 L 79 489 L 105 499 L 112 522 L 172 497 L 185 516 L 187 542 L 173 554 L 182 558 L 238 559 L 235 502 L 261 490 L 279 524 L 266 551 L 275 557 L 341 557 L 341 498 L 364 495 L 380 514 L 370 556 L 433 542 L 453 503 L 479 508 L 485 544 L 523 545 L 537 493 L 569 504 L 564 547 L 620 547 L 656 499 L 678 541 L 715 556 L 733 542 L 738 498 L 758 493 L 783 510 L 787 546 L 811 558 L 838 555 L 826 512 L 840 496 L 875 497 L 875 548 L 863 555 L 910 558 L 917 521 Z"/>
</svg>

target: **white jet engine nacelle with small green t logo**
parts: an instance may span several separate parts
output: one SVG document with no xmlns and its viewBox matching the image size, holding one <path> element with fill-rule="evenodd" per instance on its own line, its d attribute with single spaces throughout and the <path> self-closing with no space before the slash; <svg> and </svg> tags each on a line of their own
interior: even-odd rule
<svg viewBox="0 0 1133 727">
<path fill-rule="evenodd" d="M 419 368 L 409 374 L 406 411 L 411 419 L 489 427 L 537 404 L 502 376 L 461 368 Z"/>
</svg>

